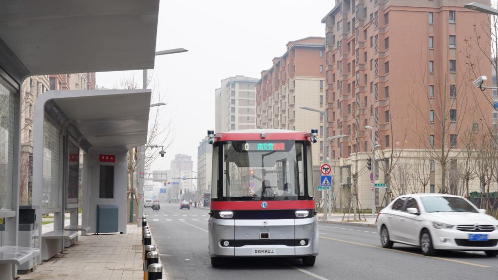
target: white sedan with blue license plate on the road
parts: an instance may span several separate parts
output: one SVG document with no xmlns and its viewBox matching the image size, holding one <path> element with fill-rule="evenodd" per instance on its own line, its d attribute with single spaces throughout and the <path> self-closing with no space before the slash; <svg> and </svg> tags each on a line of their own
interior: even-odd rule
<svg viewBox="0 0 498 280">
<path fill-rule="evenodd" d="M 498 220 L 469 200 L 456 195 L 401 195 L 378 214 L 380 243 L 420 247 L 422 254 L 437 250 L 484 251 L 498 256 Z"/>
</svg>

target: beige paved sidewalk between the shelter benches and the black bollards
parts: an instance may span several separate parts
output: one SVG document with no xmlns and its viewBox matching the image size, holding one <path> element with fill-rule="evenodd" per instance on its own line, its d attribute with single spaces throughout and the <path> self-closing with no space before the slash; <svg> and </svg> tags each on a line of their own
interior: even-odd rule
<svg viewBox="0 0 498 280">
<path fill-rule="evenodd" d="M 143 280 L 141 228 L 126 225 L 126 231 L 79 236 L 76 244 L 19 279 Z"/>
</svg>

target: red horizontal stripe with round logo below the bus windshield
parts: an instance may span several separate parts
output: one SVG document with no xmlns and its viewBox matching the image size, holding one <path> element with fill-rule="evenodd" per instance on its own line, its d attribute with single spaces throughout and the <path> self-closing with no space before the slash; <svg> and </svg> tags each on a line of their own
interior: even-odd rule
<svg viewBox="0 0 498 280">
<path fill-rule="evenodd" d="M 268 206 L 262 208 L 263 201 L 211 201 L 211 210 L 315 209 L 315 200 L 270 200 L 266 201 Z"/>
</svg>

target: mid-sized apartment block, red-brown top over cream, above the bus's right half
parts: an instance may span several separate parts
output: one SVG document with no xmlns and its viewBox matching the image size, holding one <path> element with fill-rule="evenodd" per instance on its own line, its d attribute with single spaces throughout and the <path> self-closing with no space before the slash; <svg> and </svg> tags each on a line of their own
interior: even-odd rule
<svg viewBox="0 0 498 280">
<path fill-rule="evenodd" d="M 261 72 L 256 85 L 258 128 L 319 128 L 320 149 L 313 149 L 314 166 L 323 161 L 323 116 L 299 107 L 325 110 L 324 41 L 323 37 L 308 37 L 288 42 L 287 51 Z"/>
</svg>

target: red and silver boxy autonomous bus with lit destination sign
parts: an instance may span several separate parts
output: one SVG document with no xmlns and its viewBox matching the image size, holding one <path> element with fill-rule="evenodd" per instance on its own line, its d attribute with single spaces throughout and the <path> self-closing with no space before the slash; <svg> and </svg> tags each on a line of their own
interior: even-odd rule
<svg viewBox="0 0 498 280">
<path fill-rule="evenodd" d="M 295 257 L 313 266 L 318 228 L 313 198 L 312 133 L 248 129 L 214 134 L 209 254 Z"/>
</svg>

